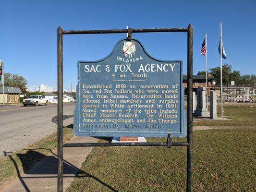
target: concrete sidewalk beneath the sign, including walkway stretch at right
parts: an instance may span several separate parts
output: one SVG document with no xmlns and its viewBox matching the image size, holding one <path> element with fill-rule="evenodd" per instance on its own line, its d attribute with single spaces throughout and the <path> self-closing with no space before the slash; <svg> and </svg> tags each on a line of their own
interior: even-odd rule
<svg viewBox="0 0 256 192">
<path fill-rule="evenodd" d="M 256 129 L 256 126 L 197 126 L 194 131 L 209 129 Z M 92 137 L 75 137 L 68 143 L 97 143 Z M 93 147 L 63 148 L 63 191 L 65 191 L 76 173 L 79 171 L 86 156 Z M 0 187 L 1 192 L 56 192 L 57 191 L 57 150 L 54 150 L 30 171 L 19 174 L 19 177 L 9 184 Z"/>
</svg>

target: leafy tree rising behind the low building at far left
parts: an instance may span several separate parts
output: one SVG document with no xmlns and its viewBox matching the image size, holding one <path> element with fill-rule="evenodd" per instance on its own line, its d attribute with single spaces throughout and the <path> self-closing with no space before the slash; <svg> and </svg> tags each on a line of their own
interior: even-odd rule
<svg viewBox="0 0 256 192">
<path fill-rule="evenodd" d="M 4 73 L 4 85 L 11 87 L 20 87 L 21 91 L 25 93 L 27 80 L 19 74 L 12 74 L 10 72 L 6 72 Z"/>
</svg>

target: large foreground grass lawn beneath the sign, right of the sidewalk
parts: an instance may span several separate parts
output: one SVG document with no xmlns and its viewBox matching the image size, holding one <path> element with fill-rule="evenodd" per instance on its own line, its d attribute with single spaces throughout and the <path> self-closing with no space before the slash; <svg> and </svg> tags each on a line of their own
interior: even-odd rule
<svg viewBox="0 0 256 192">
<path fill-rule="evenodd" d="M 193 134 L 193 191 L 256 191 L 256 130 Z M 184 192 L 186 147 L 95 147 L 81 170 L 68 192 Z"/>
</svg>

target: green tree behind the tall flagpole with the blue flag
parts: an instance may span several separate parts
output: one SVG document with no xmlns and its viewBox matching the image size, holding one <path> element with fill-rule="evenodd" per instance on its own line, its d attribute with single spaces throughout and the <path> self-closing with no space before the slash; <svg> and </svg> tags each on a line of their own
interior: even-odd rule
<svg viewBox="0 0 256 192">
<path fill-rule="evenodd" d="M 209 73 L 215 77 L 216 84 L 220 84 L 220 67 L 214 67 L 209 69 Z M 222 65 L 222 84 L 229 84 L 229 77 L 232 73 L 232 66 L 225 63 Z"/>
</svg>

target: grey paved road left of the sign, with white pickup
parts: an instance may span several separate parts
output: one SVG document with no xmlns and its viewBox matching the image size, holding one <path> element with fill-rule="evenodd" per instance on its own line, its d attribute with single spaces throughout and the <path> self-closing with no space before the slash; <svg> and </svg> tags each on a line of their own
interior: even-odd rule
<svg viewBox="0 0 256 192">
<path fill-rule="evenodd" d="M 73 115 L 74 103 L 63 103 L 63 115 Z M 48 106 L 0 106 L 0 158 L 57 131 L 51 119 L 57 115 L 57 104 Z M 73 123 L 73 118 L 63 125 Z"/>
</svg>

